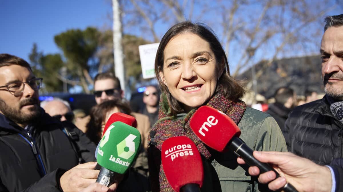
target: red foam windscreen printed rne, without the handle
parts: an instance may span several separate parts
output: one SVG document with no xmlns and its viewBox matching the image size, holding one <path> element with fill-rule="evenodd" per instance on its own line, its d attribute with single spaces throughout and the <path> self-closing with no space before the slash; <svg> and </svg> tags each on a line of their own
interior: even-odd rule
<svg viewBox="0 0 343 192">
<path fill-rule="evenodd" d="M 199 107 L 190 120 L 190 127 L 202 142 L 220 152 L 232 137 L 240 135 L 238 126 L 229 116 L 209 106 Z"/>
</svg>

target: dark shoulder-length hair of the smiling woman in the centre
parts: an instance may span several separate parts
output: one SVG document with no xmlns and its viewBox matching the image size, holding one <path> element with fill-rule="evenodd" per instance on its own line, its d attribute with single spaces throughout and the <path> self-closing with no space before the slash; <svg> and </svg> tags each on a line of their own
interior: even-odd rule
<svg viewBox="0 0 343 192">
<path fill-rule="evenodd" d="M 218 41 L 217 37 L 215 36 L 214 32 L 211 28 L 206 26 L 202 23 L 192 23 L 189 21 L 178 23 L 174 26 L 172 26 L 166 34 L 163 36 L 161 42 L 159 43 L 156 58 L 155 58 L 155 73 L 156 78 L 159 83 L 159 86 L 161 87 L 161 91 L 164 92 L 167 95 L 168 104 L 170 106 L 171 115 L 175 115 L 177 113 L 183 112 L 184 110 L 181 107 L 181 104 L 173 97 L 171 96 L 167 86 L 163 83 L 163 80 L 161 79 L 161 76 L 159 75 L 159 72 L 163 72 L 163 61 L 164 61 L 164 49 L 167 46 L 168 42 L 171 38 L 182 34 L 182 33 L 194 33 L 198 35 L 203 40 L 207 41 L 210 44 L 211 50 L 213 51 L 218 68 L 223 68 L 223 73 L 221 74 L 217 87 L 216 92 L 221 87 L 223 88 L 225 98 L 230 100 L 237 100 L 241 97 L 243 97 L 245 93 L 245 88 L 242 84 L 242 82 L 235 80 L 230 76 L 229 71 L 229 64 L 227 62 L 227 57 L 225 55 L 224 49 L 220 42 Z M 222 66 L 219 66 L 222 65 Z"/>
</svg>

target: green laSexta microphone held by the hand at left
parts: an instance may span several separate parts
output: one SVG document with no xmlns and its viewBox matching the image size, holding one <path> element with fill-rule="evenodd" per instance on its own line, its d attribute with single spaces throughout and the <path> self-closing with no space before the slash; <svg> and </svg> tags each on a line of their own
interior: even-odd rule
<svg viewBox="0 0 343 192">
<path fill-rule="evenodd" d="M 137 157 L 141 145 L 139 131 L 123 122 L 112 123 L 99 142 L 97 163 L 101 166 L 97 183 L 110 186 L 123 175 Z"/>
</svg>

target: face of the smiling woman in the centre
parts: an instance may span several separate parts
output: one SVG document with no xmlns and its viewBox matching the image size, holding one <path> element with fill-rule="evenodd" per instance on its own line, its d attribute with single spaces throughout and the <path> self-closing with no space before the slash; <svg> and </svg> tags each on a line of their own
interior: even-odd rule
<svg viewBox="0 0 343 192">
<path fill-rule="evenodd" d="M 160 76 L 170 94 L 189 111 L 206 102 L 214 93 L 218 76 L 210 44 L 194 33 L 173 37 L 164 49 Z"/>
</svg>

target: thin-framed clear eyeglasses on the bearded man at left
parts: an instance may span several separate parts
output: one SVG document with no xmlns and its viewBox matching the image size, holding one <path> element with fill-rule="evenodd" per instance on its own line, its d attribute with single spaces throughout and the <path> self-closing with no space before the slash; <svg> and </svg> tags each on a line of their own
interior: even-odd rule
<svg viewBox="0 0 343 192">
<path fill-rule="evenodd" d="M 25 83 L 28 84 L 33 90 L 37 91 L 42 88 L 43 78 L 35 78 L 26 82 L 17 81 L 14 83 L 9 83 L 5 86 L 1 86 L 0 88 L 6 87 L 12 95 L 19 96 L 24 91 Z"/>
</svg>

